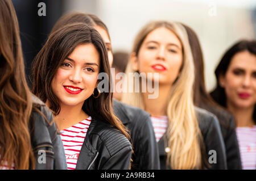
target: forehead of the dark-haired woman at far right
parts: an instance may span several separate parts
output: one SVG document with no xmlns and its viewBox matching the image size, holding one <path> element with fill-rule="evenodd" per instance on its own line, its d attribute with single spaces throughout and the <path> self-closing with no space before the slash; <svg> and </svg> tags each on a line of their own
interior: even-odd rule
<svg viewBox="0 0 256 181">
<path fill-rule="evenodd" d="M 229 66 L 256 71 L 256 56 L 248 51 L 238 52 L 233 56 Z"/>
</svg>

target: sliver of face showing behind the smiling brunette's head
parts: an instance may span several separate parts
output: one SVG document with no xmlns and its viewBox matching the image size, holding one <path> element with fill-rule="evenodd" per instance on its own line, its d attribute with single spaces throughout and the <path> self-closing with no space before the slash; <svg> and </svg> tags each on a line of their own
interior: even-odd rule
<svg viewBox="0 0 256 181">
<path fill-rule="evenodd" d="M 94 28 L 98 31 L 98 33 L 100 33 L 102 39 L 106 44 L 106 48 L 108 50 L 109 65 L 111 67 L 113 64 L 113 53 L 112 53 L 112 45 L 109 39 L 108 32 L 106 32 L 106 30 L 100 26 L 95 26 Z"/>
</svg>

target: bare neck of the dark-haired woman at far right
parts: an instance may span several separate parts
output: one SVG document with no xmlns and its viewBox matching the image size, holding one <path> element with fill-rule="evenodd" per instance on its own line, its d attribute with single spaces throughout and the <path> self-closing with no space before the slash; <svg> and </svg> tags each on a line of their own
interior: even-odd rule
<svg viewBox="0 0 256 181">
<path fill-rule="evenodd" d="M 253 127 L 254 106 L 250 108 L 238 108 L 227 102 L 228 110 L 233 114 L 237 127 Z"/>
</svg>

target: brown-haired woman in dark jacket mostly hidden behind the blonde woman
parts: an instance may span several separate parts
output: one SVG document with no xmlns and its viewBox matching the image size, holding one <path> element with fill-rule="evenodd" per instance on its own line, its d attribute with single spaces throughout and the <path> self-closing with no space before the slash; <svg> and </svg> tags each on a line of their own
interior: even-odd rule
<svg viewBox="0 0 256 181">
<path fill-rule="evenodd" d="M 236 126 L 230 113 L 218 106 L 205 89 L 204 58 L 199 39 L 192 28 L 183 24 L 188 33 L 188 40 L 195 64 L 194 102 L 197 107 L 212 112 L 218 117 L 226 149 L 228 169 L 242 169 L 240 151 L 237 142 Z"/>
</svg>

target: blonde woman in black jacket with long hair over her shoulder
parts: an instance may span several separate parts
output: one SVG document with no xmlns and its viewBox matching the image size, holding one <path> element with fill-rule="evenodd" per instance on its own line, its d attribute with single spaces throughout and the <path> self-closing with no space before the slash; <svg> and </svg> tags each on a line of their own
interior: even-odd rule
<svg viewBox="0 0 256 181">
<path fill-rule="evenodd" d="M 158 78 L 150 73 L 158 73 Z M 131 84 L 135 74 L 140 81 Z M 161 169 L 226 169 L 216 116 L 193 104 L 193 57 L 181 24 L 159 21 L 144 26 L 135 38 L 126 75 L 122 102 L 151 114 Z M 152 90 L 143 91 L 143 83 L 158 89 L 158 96 L 150 99 Z"/>
</svg>

